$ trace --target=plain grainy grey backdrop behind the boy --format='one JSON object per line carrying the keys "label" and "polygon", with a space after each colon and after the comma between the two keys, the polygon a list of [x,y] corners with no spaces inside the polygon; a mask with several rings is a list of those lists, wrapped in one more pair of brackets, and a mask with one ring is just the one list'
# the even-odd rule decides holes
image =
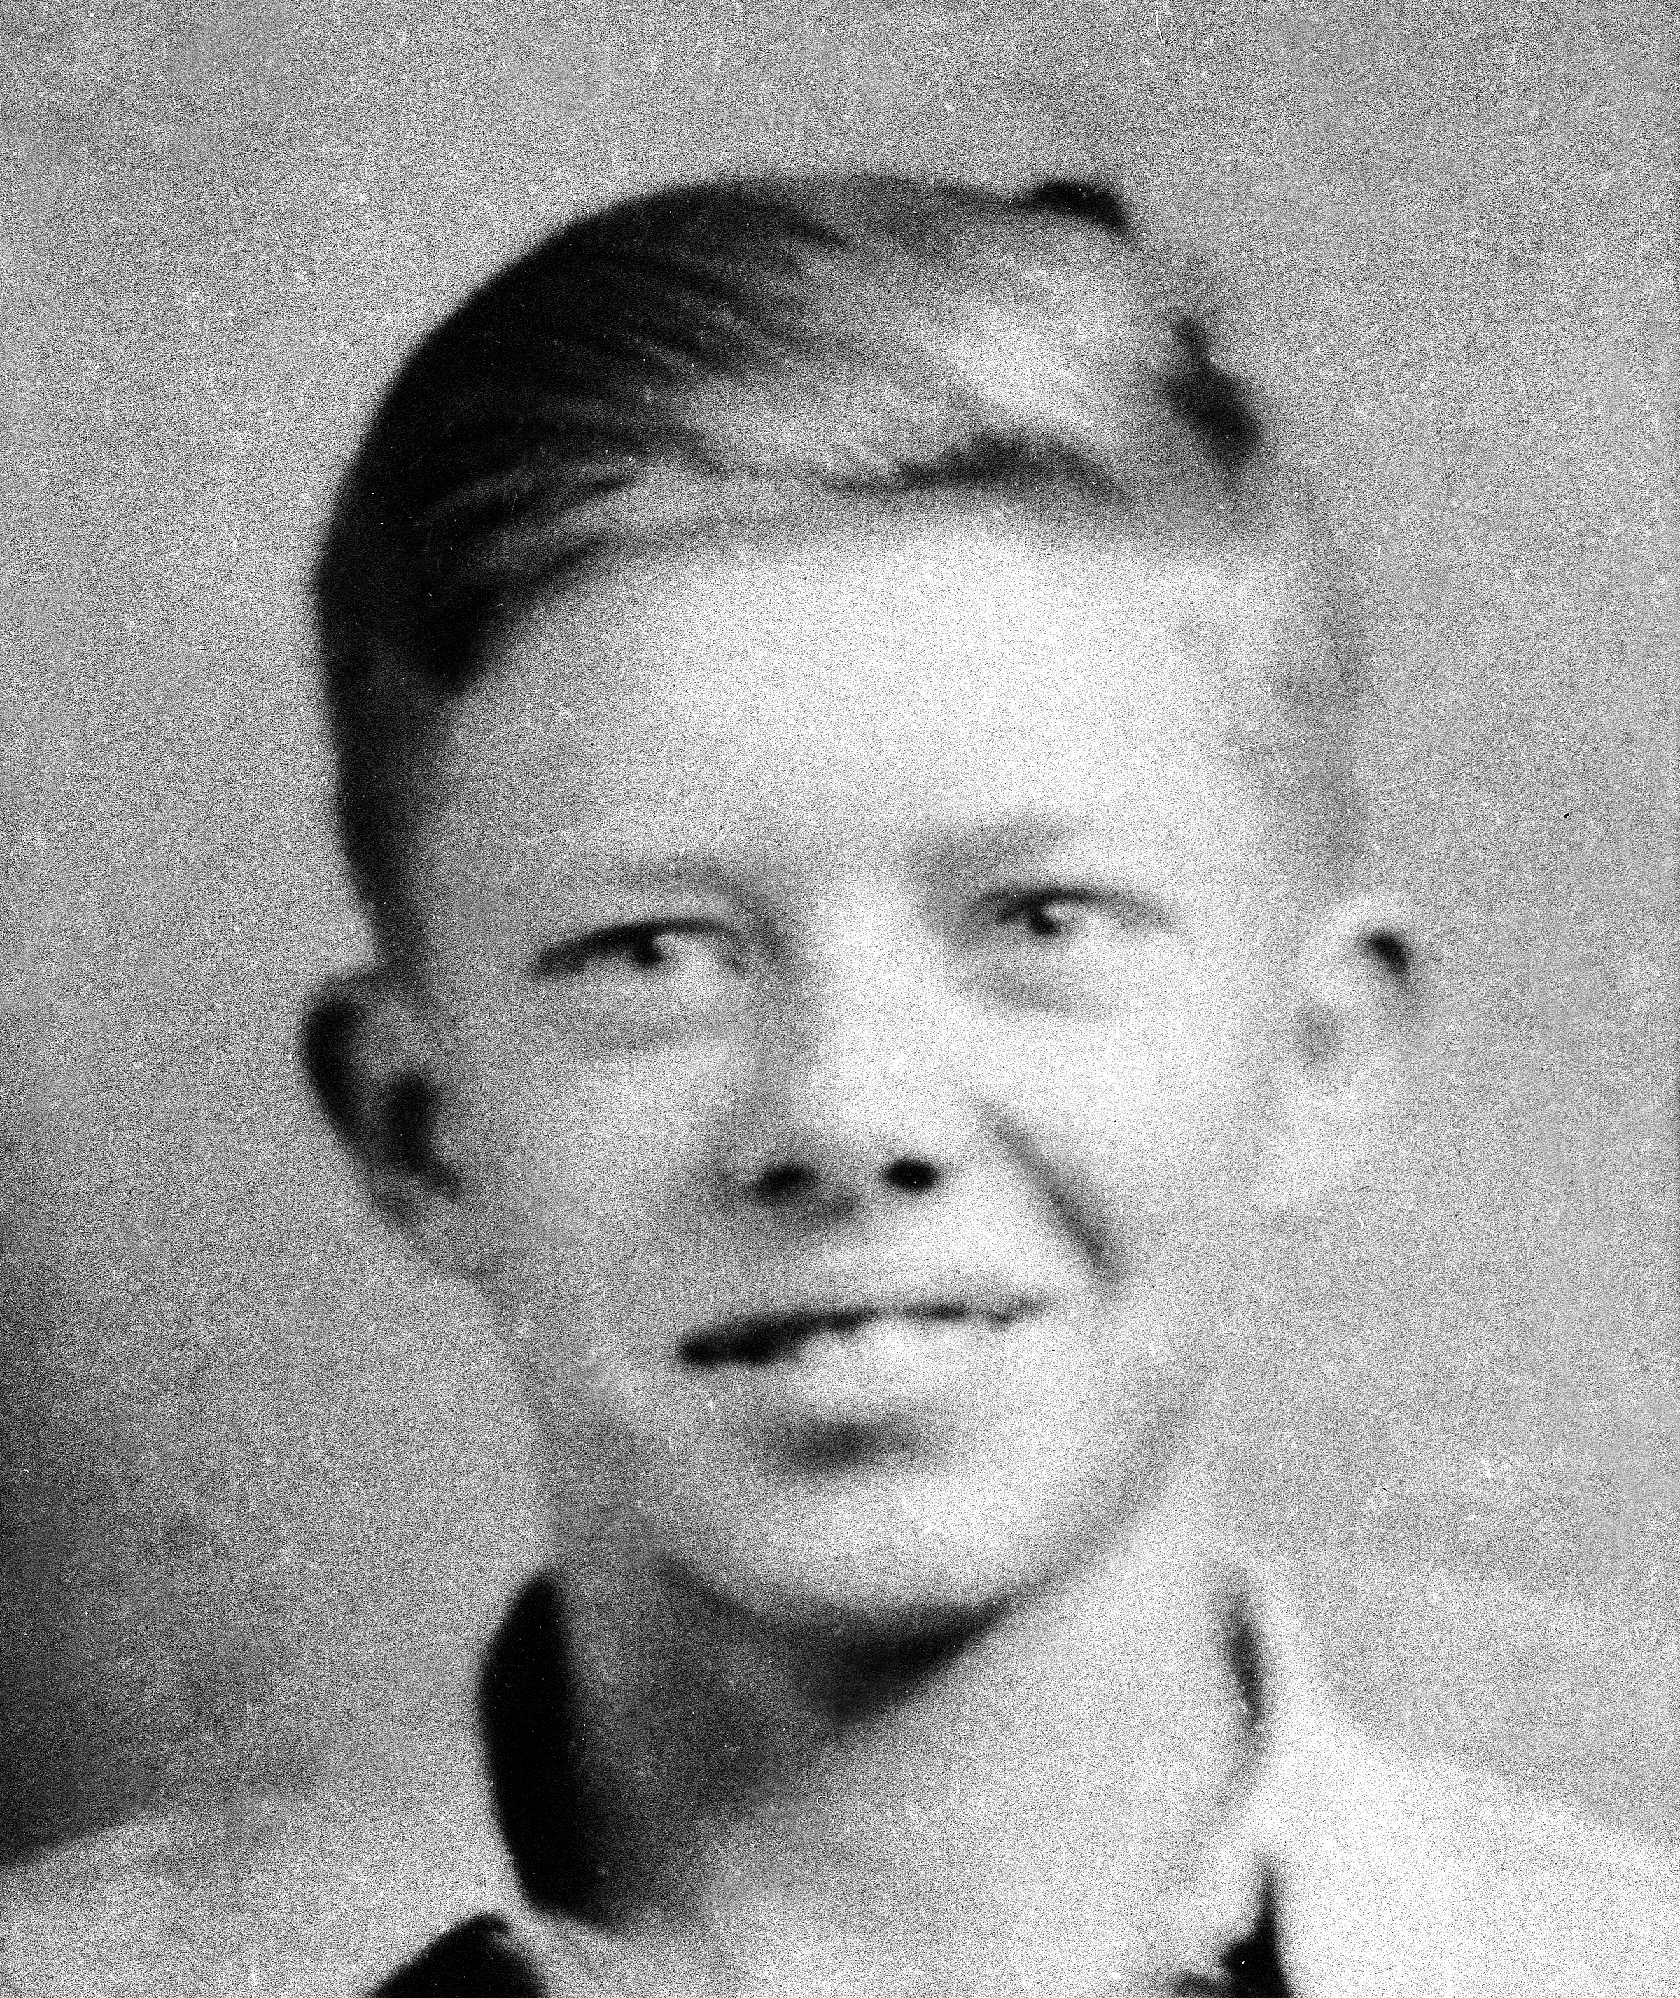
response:
{"label": "plain grainy grey backdrop behind the boy", "polygon": [[1674,1832],[1674,84],[1660,0],[0,4],[0,1852],[465,1760],[539,1542],[483,1325],[300,1089],[362,949],[310,541],[543,226],[833,160],[1097,168],[1229,276],[1432,989],[1233,1329],[1231,1506],[1386,1732]]}

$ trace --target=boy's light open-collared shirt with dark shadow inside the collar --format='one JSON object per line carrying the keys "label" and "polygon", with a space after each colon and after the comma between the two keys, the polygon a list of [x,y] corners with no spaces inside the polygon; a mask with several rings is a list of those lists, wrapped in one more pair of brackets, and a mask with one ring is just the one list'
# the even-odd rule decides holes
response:
{"label": "boy's light open-collared shirt with dark shadow inside the collar", "polygon": [[[0,1878],[0,1998],[591,1998],[609,1954],[543,1908],[577,1862],[545,1822],[555,1598],[491,1646],[495,1820],[471,1784],[142,1820]],[[1209,1828],[1175,1998],[1672,1998],[1680,1860],[1340,1714],[1276,1590],[1229,1620],[1253,1758]],[[537,1968],[545,1964],[547,1968]],[[394,1968],[400,1966],[400,1968]],[[985,1998],[985,1994],[977,1994]]]}

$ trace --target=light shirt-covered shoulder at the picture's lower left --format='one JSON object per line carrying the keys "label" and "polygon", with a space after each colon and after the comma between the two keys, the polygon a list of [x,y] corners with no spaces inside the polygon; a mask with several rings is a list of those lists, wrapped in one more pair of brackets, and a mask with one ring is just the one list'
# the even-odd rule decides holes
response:
{"label": "light shirt-covered shoulder at the picture's lower left", "polygon": [[0,1874],[0,1998],[344,1998],[515,1898],[471,1798],[152,1816]]}

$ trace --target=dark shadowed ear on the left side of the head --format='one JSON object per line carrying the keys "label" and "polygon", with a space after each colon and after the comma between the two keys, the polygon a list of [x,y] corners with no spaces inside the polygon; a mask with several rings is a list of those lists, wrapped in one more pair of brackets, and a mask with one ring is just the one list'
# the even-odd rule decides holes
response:
{"label": "dark shadowed ear on the left side of the head", "polygon": [[410,987],[384,967],[338,973],[304,1015],[298,1053],[380,1213],[443,1275],[479,1275],[437,1045]]}

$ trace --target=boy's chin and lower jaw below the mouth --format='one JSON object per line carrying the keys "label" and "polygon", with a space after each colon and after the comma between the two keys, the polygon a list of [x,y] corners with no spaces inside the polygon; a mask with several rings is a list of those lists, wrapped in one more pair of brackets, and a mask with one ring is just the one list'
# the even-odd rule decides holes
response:
{"label": "boy's chin and lower jaw below the mouth", "polygon": [[[973,1397],[601,1425],[555,1453],[561,1568],[829,1652],[987,1628],[1123,1546],[1191,1441],[1195,1369],[1121,1383],[1057,1357]],[[609,1489],[575,1483],[603,1459]]]}

